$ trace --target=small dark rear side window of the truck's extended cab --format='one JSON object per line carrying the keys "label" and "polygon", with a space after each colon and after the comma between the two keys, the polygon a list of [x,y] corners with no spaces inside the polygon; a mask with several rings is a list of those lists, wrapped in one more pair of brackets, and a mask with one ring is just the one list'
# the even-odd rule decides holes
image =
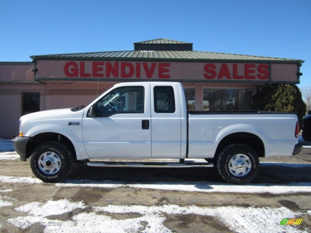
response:
{"label": "small dark rear side window of the truck's extended cab", "polygon": [[153,89],[156,113],[174,113],[175,97],[171,86],[156,86]]}

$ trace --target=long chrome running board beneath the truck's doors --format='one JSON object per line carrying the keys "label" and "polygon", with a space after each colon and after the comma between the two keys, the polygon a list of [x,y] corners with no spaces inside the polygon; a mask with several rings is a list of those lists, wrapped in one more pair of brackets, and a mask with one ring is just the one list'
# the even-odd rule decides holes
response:
{"label": "long chrome running board beneath the truck's doors", "polygon": [[91,167],[207,167],[208,162],[86,162]]}

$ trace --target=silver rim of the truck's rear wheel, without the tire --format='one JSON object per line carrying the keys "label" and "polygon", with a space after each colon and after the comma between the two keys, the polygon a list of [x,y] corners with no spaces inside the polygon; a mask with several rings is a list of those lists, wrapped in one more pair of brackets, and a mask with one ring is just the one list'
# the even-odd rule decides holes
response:
{"label": "silver rim of the truck's rear wheel, without the tire", "polygon": [[244,154],[236,154],[229,161],[229,171],[234,176],[246,176],[251,169],[252,163]]}

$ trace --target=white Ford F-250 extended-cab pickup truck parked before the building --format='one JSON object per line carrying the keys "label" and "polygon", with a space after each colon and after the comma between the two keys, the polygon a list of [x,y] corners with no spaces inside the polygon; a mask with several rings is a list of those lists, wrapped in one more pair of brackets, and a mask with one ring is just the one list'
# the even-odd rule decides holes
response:
{"label": "white Ford F-250 extended-cab pickup truck parked before the building", "polygon": [[14,146],[45,182],[66,177],[74,162],[155,167],[94,159],[179,159],[158,165],[186,167],[195,163],[184,159],[203,158],[227,182],[244,184],[257,175],[259,157],[299,153],[298,134],[295,114],[187,112],[180,83],[132,82],[114,85],[86,106],[22,116]]}

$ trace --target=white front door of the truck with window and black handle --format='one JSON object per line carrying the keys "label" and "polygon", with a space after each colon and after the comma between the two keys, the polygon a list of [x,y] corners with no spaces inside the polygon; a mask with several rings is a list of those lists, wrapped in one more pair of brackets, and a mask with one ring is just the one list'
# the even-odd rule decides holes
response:
{"label": "white front door of the truck with window and black handle", "polygon": [[84,113],[86,152],[90,158],[150,158],[150,121],[150,85],[117,87]]}

